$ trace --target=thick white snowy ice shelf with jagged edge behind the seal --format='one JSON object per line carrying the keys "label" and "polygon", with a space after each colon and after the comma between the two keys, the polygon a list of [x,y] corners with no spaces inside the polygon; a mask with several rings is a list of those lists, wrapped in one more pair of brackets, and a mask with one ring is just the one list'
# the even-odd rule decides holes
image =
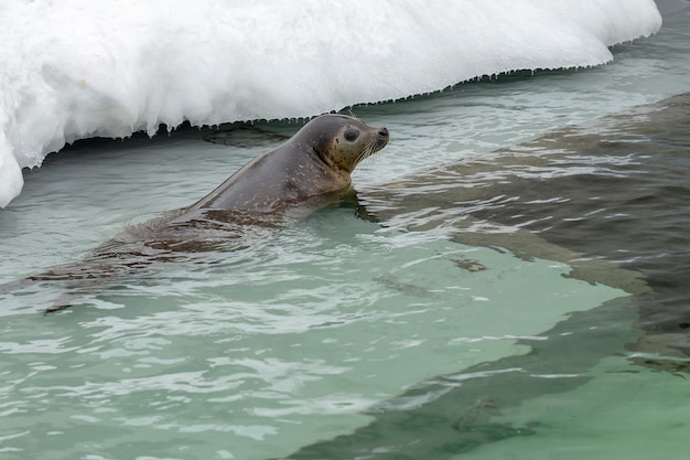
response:
{"label": "thick white snowy ice shelf with jagged edge behind the seal", "polygon": [[591,66],[653,0],[0,3],[0,206],[65,142],[308,117],[516,69]]}

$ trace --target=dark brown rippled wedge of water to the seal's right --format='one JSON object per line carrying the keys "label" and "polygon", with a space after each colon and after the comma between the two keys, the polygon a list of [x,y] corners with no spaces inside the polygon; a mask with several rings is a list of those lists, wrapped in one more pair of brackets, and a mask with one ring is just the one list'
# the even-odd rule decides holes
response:
{"label": "dark brown rippled wedge of water to the seal's right", "polygon": [[[633,292],[640,287],[632,286],[634,280],[623,271],[616,276],[614,264],[637,271],[653,289],[639,300],[640,325],[649,334],[677,336],[675,346],[687,349],[688,127],[690,94],[683,94],[363,191],[360,200],[390,225],[423,229],[443,222],[448,226],[454,216],[459,242],[543,257],[545,247],[530,247],[525,238],[533,238],[521,236],[521,231],[529,231],[572,250],[549,257],[570,257],[565,261],[578,267],[574,276]],[[412,213],[423,213],[423,220]],[[487,231],[477,233],[477,228]],[[587,269],[601,267],[589,260],[593,258],[610,261],[604,270],[611,276],[587,277]]]}

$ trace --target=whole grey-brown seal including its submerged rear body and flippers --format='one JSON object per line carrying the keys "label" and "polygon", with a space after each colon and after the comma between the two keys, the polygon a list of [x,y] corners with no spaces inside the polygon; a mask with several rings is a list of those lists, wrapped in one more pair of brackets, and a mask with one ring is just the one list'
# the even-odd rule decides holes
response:
{"label": "whole grey-brown seal including its submerged rear body and flippers", "polygon": [[[118,274],[148,267],[157,260],[231,249],[247,233],[284,222],[288,211],[301,210],[293,212],[303,215],[312,210],[310,204],[322,203],[326,195],[339,197],[341,193],[351,191],[351,174],[357,164],[382,149],[388,139],[386,128],[373,128],[345,115],[321,115],[195,204],[130,225],[85,259],[2,285],[0,293],[36,281],[88,282],[88,286],[75,286],[78,295]],[[74,293],[67,297],[46,311],[69,307]]]}

